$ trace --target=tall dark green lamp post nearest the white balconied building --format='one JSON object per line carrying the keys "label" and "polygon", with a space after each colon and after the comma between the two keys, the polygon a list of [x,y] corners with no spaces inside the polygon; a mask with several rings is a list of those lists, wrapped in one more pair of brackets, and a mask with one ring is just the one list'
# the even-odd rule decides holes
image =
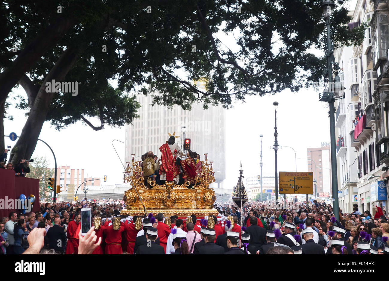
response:
{"label": "tall dark green lamp post nearest the white balconied building", "polygon": [[[334,102],[336,98],[344,98],[344,95],[341,97],[340,94],[343,91],[343,86],[340,83],[339,73],[339,63],[335,63],[333,56],[334,47],[331,42],[331,22],[330,17],[332,10],[335,8],[335,4],[332,0],[326,0],[321,4],[321,7],[326,17],[327,25],[327,65],[326,72],[328,76],[328,88],[327,91],[324,90],[323,93],[319,93],[319,100],[322,102],[329,103],[329,130],[331,134],[331,179],[332,179],[332,205],[333,213],[337,220],[339,220],[339,201],[338,201],[338,181],[337,181],[337,167],[336,167],[336,140],[335,140],[335,107]],[[332,79],[334,65],[334,74],[335,78]]]}

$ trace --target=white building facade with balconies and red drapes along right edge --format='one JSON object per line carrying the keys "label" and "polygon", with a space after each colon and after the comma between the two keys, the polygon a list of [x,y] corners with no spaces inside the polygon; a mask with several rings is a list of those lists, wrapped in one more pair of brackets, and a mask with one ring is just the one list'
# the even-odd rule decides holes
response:
{"label": "white building facade with balconies and red drapes along right edge", "polygon": [[[339,62],[341,68],[339,76],[346,88],[345,98],[337,101],[335,126],[338,129],[338,137],[340,137],[340,139],[337,137],[336,146],[339,207],[343,212],[348,213],[352,212],[353,204],[358,204],[359,211],[367,210],[372,214],[375,213],[375,205],[385,207],[387,204],[387,198],[379,200],[383,197],[382,192],[381,196],[378,196],[377,190],[378,186],[384,185],[380,180],[385,179],[381,175],[386,163],[385,151],[387,149],[383,136],[387,136],[387,131],[385,134],[380,134],[380,124],[382,124],[380,119],[382,118],[379,114],[382,101],[376,98],[380,96],[379,85],[387,76],[384,72],[377,75],[380,67],[386,71],[385,63],[382,63],[384,61],[382,54],[386,53],[389,47],[387,19],[389,10],[386,2],[358,0],[355,10],[350,14],[352,22],[349,26],[353,28],[361,23],[368,23],[364,41],[359,46],[342,46],[334,52],[335,61]],[[380,10],[377,14],[375,10],[378,4],[380,9],[386,5],[386,11]],[[386,33],[382,33],[382,30],[380,32],[380,25],[386,26]],[[384,39],[381,38],[382,36]],[[384,41],[386,43],[383,43]],[[387,44],[387,46],[382,46],[382,44]],[[385,51],[382,49],[384,47]],[[377,53],[379,58],[376,57]],[[355,125],[356,116],[357,124]],[[381,152],[382,144],[384,144],[382,148],[384,153]],[[389,163],[389,157],[387,160]]]}

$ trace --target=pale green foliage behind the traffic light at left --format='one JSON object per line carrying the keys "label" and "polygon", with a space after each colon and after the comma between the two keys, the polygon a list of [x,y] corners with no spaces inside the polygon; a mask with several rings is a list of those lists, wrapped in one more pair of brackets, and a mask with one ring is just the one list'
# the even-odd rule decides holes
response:
{"label": "pale green foliage behind the traffic light at left", "polygon": [[34,162],[29,163],[29,166],[30,173],[27,173],[26,177],[39,179],[40,202],[50,202],[51,190],[47,188],[47,179],[53,176],[54,169],[49,168],[50,163],[46,157],[34,157]]}

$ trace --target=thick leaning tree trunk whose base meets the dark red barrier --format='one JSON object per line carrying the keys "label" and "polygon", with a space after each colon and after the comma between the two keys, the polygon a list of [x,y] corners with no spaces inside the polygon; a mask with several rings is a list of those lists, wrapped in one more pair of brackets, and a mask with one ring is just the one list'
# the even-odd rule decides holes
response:
{"label": "thick leaning tree trunk whose base meets the dark red barrier", "polygon": [[12,149],[11,159],[14,165],[16,165],[20,159],[29,159],[37,145],[40,131],[46,120],[47,112],[49,112],[51,100],[55,95],[55,92],[46,92],[46,82],[51,82],[53,79],[56,82],[63,82],[76,59],[77,50],[73,47],[69,47],[44,79],[39,88],[37,97],[33,102],[30,114],[28,115],[18,142],[16,142],[16,145]]}

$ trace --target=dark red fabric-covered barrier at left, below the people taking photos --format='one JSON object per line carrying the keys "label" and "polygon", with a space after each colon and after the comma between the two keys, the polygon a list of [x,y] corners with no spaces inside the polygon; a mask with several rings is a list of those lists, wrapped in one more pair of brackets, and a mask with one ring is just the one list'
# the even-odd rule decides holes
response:
{"label": "dark red fabric-covered barrier at left, below the people taking photos", "polygon": [[[17,177],[13,170],[0,169],[0,199],[18,199],[21,194],[35,196],[35,204],[32,211],[39,212],[39,179]],[[21,210],[9,210],[8,202],[4,202],[0,208],[0,218],[8,216],[11,211],[21,213]]]}

